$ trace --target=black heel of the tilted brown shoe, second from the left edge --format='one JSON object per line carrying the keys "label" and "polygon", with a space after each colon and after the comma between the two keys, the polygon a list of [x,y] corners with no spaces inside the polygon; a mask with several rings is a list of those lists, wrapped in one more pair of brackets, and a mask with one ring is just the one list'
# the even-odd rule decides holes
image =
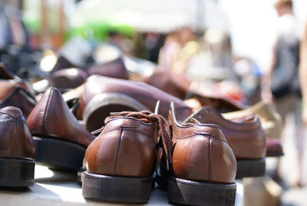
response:
{"label": "black heel of the tilted brown shoe, second from the left edge", "polygon": [[76,172],[82,166],[85,148],[68,141],[46,137],[33,137],[36,163],[50,169]]}

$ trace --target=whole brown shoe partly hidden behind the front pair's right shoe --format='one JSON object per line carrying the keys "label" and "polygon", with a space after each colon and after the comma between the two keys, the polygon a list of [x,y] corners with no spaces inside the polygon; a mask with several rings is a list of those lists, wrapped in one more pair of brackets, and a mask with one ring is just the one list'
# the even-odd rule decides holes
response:
{"label": "whole brown shoe partly hidden behind the front pair's right shoe", "polygon": [[190,121],[220,126],[237,159],[236,178],[264,175],[266,136],[257,115],[234,121],[225,119],[214,108],[204,106],[184,122]]}

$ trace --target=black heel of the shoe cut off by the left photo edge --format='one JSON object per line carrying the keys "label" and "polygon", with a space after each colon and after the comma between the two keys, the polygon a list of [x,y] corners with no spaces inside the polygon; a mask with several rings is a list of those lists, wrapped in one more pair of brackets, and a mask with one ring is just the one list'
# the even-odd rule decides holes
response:
{"label": "black heel of the shoe cut off by the left photo edge", "polygon": [[31,187],[34,185],[34,161],[0,159],[1,187]]}

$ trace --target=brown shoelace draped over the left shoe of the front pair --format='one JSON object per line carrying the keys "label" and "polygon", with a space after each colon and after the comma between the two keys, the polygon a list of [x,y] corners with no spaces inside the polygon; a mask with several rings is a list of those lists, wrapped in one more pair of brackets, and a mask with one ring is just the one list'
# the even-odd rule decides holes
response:
{"label": "brown shoelace draped over the left shoe of the front pair", "polygon": [[[172,163],[172,157],[171,157],[172,136],[170,134],[170,128],[168,127],[168,122],[163,116],[157,115],[155,113],[150,113],[150,111],[139,111],[139,112],[124,111],[120,113],[111,113],[110,115],[111,117],[106,117],[105,122],[108,122],[110,119],[113,119],[115,117],[134,117],[145,123],[157,122],[159,126],[159,133],[161,133],[164,152],[166,155],[166,167],[169,169],[169,164]],[[99,133],[101,131],[102,128],[93,131],[91,134],[93,135],[94,133]]]}

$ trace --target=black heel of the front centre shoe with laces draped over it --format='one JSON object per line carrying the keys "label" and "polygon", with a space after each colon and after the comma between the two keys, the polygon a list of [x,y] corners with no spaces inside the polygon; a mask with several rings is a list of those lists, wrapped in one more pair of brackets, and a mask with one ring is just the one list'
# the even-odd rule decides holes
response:
{"label": "black heel of the front centre shoe with laces draped over it", "polygon": [[133,178],[82,173],[82,195],[100,201],[146,203],[149,201],[152,177]]}

